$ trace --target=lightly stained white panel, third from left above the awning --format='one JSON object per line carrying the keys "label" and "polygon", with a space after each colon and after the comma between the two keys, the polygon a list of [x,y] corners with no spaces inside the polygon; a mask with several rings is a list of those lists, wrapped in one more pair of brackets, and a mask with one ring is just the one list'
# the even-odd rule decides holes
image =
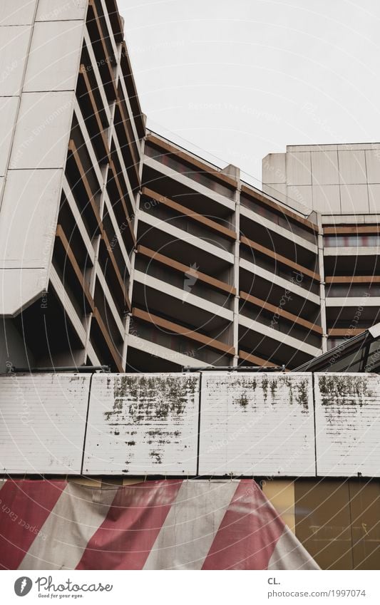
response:
{"label": "lightly stained white panel, third from left above the awning", "polygon": [[202,373],[200,475],[315,475],[310,374]]}

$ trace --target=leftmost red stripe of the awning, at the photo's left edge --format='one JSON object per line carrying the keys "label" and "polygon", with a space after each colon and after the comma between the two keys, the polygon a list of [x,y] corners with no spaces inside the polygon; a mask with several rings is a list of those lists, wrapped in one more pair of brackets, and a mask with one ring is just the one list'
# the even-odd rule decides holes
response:
{"label": "leftmost red stripe of the awning, at the photo's left edge", "polygon": [[0,568],[17,569],[67,483],[7,480],[0,491]]}

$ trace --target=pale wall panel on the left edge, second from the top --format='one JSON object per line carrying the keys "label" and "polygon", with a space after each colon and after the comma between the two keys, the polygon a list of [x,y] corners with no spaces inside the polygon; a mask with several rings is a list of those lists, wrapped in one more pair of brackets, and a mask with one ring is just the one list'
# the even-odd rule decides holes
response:
{"label": "pale wall panel on the left edge, second from the top", "polygon": [[3,27],[0,34],[0,96],[19,95],[28,54],[31,26]]}

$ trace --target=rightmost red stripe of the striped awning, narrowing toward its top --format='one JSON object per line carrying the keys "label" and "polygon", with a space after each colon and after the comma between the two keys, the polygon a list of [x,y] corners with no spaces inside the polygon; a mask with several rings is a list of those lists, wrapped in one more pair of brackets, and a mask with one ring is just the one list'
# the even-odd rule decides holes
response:
{"label": "rightmost red stripe of the striped awning, narrowing toward its top", "polygon": [[252,480],[237,485],[202,569],[267,569],[284,523]]}

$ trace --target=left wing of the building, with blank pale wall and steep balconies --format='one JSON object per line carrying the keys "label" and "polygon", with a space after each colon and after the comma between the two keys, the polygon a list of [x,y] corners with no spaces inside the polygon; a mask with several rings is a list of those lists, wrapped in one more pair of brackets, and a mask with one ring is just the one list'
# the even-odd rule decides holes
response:
{"label": "left wing of the building, with blank pale wall and steep balconies", "polygon": [[1,3],[1,340],[125,367],[144,116],[107,0]]}

